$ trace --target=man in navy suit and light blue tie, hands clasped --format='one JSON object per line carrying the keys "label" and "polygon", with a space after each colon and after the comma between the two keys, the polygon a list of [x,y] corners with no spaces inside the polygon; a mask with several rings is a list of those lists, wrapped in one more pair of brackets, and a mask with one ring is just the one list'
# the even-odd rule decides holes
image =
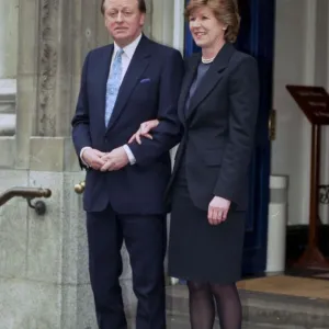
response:
{"label": "man in navy suit and light blue tie, hands clasped", "polygon": [[[126,329],[120,286],[125,241],[138,299],[136,328],[166,328],[163,192],[169,149],[179,132],[177,103],[183,76],[180,53],[143,35],[144,0],[104,0],[113,45],[87,55],[72,118],[72,138],[87,168],[90,280],[100,329]],[[140,123],[163,121],[152,140],[127,140]]]}

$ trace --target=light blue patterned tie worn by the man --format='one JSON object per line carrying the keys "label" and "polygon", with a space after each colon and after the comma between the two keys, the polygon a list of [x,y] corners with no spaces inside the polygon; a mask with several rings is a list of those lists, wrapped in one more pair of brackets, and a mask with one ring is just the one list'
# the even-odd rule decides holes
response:
{"label": "light blue patterned tie worn by the man", "polygon": [[105,105],[105,126],[107,127],[114,104],[117,98],[121,78],[122,78],[122,54],[123,49],[116,52],[112,69],[106,83],[106,105]]}

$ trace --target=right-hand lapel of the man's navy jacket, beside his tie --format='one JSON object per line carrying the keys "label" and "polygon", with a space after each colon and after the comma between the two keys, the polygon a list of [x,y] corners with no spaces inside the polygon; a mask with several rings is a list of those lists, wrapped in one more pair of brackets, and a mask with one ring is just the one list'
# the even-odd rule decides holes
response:
{"label": "right-hand lapel of the man's navy jacket, beside his tie", "polygon": [[139,79],[149,64],[150,52],[148,49],[148,38],[143,36],[135,54],[132,58],[126,75],[118,90],[116,102],[107,126],[107,131],[114,125],[124,106],[126,105],[133,90],[139,82]]}

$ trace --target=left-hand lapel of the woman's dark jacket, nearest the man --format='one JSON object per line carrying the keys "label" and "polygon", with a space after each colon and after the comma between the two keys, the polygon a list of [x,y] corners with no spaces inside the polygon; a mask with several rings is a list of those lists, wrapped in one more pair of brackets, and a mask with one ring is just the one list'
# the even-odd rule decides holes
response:
{"label": "left-hand lapel of the woman's dark jacket, nearest the man", "polygon": [[179,99],[179,104],[178,104],[178,114],[179,114],[180,121],[183,124],[185,124],[186,100],[190,94],[191,84],[196,75],[197,66],[201,60],[201,55],[196,54],[190,60],[191,60],[191,63],[190,63],[189,67],[186,68],[186,72],[185,72],[185,76],[183,79],[181,94],[180,94],[180,99]]}

